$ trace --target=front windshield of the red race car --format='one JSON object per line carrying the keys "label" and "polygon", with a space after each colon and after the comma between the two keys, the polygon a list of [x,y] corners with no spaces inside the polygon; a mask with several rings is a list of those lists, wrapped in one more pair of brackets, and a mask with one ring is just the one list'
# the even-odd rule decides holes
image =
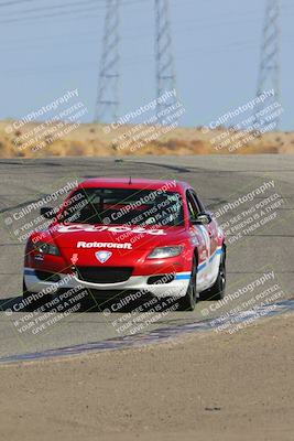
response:
{"label": "front windshield of the red race car", "polygon": [[184,223],[183,200],[176,192],[162,190],[80,189],[66,202],[58,222],[179,226]]}

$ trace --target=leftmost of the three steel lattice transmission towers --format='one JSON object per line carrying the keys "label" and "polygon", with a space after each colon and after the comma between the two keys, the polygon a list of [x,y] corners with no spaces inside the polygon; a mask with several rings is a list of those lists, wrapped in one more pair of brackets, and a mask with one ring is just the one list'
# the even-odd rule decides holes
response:
{"label": "leftmost of the three steel lattice transmission towers", "polygon": [[118,119],[119,109],[119,1],[107,0],[95,121]]}

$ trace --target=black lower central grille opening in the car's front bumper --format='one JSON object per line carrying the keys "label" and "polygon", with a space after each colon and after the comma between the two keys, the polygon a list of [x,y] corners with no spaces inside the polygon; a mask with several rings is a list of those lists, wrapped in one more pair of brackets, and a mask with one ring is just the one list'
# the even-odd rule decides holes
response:
{"label": "black lower central grille opening in the car's front bumper", "polygon": [[132,267],[77,267],[77,277],[91,283],[118,283],[128,280],[132,271]]}

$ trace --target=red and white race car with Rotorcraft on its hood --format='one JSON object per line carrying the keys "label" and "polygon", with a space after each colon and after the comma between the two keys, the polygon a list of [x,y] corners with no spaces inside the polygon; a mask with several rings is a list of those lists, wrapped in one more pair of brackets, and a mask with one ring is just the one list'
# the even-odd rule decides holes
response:
{"label": "red and white race car with Rotorcraft on its hood", "polygon": [[58,211],[41,214],[52,222],[26,244],[26,308],[77,287],[104,298],[110,291],[177,298],[190,311],[200,298],[224,297],[224,233],[185,182],[90,179]]}

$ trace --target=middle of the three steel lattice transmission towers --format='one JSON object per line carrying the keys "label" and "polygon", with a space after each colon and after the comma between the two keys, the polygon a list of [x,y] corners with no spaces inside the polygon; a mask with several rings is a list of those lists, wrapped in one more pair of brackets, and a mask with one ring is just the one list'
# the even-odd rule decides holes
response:
{"label": "middle of the three steel lattice transmission towers", "polygon": [[[155,57],[156,57],[156,95],[157,99],[165,93],[175,89],[176,80],[172,55],[172,37],[170,25],[168,0],[155,0]],[[156,112],[159,122],[165,123],[163,110],[176,103],[172,95],[159,103]]]}

